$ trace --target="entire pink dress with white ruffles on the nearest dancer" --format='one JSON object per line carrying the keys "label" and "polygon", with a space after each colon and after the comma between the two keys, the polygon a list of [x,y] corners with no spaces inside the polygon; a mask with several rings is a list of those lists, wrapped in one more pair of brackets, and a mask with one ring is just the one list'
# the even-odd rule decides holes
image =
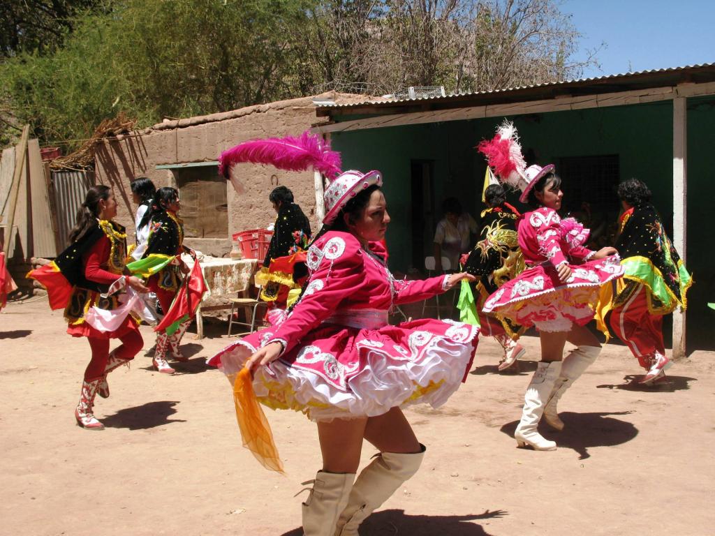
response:
{"label": "entire pink dress with white ruffles on the nearest dancer", "polygon": [[443,405],[470,369],[479,328],[435,319],[389,325],[390,307],[445,292],[447,278],[395,279],[377,255],[382,249],[375,242],[366,251],[352,234],[327,232],[308,250],[310,279],[292,312],[208,363],[233,384],[253,352],[280,341],[281,357],[255,373],[256,396],[312,420]]}

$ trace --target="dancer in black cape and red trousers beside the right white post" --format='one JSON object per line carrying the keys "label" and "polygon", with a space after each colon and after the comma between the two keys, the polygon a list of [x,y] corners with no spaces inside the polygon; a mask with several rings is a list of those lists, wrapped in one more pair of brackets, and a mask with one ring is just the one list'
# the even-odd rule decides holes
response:
{"label": "dancer in black cape and red trousers beside the right white post", "polygon": [[616,284],[609,323],[646,370],[650,384],[665,376],[671,362],[663,341],[663,316],[687,306],[692,278],[651,204],[651,191],[638,179],[618,185],[623,205],[616,249],[626,269]]}

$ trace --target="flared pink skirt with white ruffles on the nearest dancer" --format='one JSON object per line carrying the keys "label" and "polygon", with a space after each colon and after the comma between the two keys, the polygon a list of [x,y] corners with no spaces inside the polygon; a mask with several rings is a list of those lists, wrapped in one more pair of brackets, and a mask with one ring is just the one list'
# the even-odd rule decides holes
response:
{"label": "flared pink skirt with white ruffles on the nearest dancer", "polygon": [[[384,324],[384,322],[383,322]],[[209,359],[235,382],[274,329],[248,335]],[[255,373],[262,404],[312,420],[374,417],[393,407],[443,405],[470,369],[479,328],[422,319],[365,329],[324,322],[280,359]]]}

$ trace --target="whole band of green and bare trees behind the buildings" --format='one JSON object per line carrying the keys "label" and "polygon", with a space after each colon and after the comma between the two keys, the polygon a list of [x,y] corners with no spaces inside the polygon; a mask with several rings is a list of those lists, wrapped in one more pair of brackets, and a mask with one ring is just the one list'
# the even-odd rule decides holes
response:
{"label": "whole band of green and bare trees behind the buildings", "polygon": [[328,89],[490,90],[580,68],[557,0],[20,1],[54,6],[64,39],[16,31],[23,44],[0,63],[1,144],[23,123],[77,147],[119,111],[147,126]]}

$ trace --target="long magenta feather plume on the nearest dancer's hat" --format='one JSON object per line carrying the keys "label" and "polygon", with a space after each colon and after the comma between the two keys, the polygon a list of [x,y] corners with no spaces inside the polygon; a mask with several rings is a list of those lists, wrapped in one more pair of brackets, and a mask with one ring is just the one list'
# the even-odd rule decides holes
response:
{"label": "long magenta feather plume on the nearest dancer's hat", "polygon": [[255,139],[227,149],[219,157],[219,173],[228,177],[232,164],[251,162],[270,164],[278,169],[302,172],[312,167],[325,175],[340,174],[340,153],[317,134],[303,132],[300,137]]}

